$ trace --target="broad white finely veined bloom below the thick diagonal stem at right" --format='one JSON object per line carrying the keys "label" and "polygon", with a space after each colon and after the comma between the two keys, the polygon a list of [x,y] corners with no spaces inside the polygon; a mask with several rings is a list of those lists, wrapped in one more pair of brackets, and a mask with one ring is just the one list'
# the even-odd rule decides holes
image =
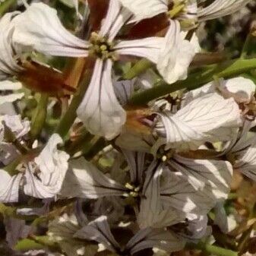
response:
{"label": "broad white finely veined bloom below the thick diagonal stem at right", "polygon": [[229,141],[233,128],[239,128],[239,106],[231,98],[223,100],[209,93],[192,100],[175,114],[159,112],[161,121],[155,130],[166,147],[196,150],[206,141]]}

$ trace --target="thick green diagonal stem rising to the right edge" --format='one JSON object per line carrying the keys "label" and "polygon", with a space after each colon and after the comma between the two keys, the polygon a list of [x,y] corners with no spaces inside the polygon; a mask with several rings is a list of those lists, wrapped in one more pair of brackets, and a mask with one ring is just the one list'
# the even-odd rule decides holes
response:
{"label": "thick green diagonal stem rising to the right edge", "polygon": [[233,77],[239,74],[251,71],[251,69],[256,68],[256,58],[251,59],[235,59],[232,62],[223,63],[223,65],[211,65],[207,67],[206,71],[197,72],[188,76],[185,81],[178,81],[174,84],[166,84],[165,81],[156,83],[153,88],[144,90],[141,93],[136,93],[131,97],[129,105],[144,105],[150,100],[154,100],[160,96],[164,96],[168,93],[172,93],[175,90],[181,90],[187,88],[188,90],[193,90],[213,81],[213,76],[216,77]]}

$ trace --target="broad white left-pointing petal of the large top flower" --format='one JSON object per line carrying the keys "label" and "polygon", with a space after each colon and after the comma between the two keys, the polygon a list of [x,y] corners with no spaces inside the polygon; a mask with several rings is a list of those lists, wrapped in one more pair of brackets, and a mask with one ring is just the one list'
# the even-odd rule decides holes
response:
{"label": "broad white left-pointing petal of the large top flower", "polygon": [[86,57],[89,43],[62,26],[57,11],[43,3],[30,5],[14,18],[14,42],[46,55]]}

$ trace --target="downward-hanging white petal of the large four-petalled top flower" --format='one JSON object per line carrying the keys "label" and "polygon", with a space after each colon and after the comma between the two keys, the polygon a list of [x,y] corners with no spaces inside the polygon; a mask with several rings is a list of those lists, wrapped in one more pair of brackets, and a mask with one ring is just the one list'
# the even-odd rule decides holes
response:
{"label": "downward-hanging white petal of the large four-petalled top flower", "polygon": [[96,60],[87,93],[77,109],[77,117],[90,133],[109,140],[120,133],[126,120],[125,110],[115,96],[111,72],[110,60]]}

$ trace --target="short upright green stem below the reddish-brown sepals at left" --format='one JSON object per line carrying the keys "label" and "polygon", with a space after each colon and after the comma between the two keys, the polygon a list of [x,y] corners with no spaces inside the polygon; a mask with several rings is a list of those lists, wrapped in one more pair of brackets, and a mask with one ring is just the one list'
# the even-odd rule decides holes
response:
{"label": "short upright green stem below the reddish-brown sepals at left", "polygon": [[49,96],[47,94],[42,93],[40,96],[39,103],[36,106],[36,110],[33,113],[32,125],[30,130],[32,141],[34,141],[43,130],[43,125],[46,122],[48,100]]}

